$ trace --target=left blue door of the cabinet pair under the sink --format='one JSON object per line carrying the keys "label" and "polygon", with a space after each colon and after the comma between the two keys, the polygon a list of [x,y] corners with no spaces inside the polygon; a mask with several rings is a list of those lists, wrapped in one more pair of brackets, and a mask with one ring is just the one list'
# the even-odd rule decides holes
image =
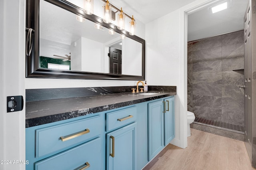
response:
{"label": "left blue door of the cabinet pair under the sink", "polygon": [[148,103],[148,161],[164,148],[163,100]]}

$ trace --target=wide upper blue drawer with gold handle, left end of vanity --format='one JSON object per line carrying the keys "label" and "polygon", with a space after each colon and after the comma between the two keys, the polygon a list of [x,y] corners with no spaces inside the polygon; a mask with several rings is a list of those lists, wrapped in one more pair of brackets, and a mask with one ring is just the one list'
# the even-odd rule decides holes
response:
{"label": "wide upper blue drawer with gold handle, left end of vanity", "polygon": [[[100,115],[36,130],[36,157],[68,149],[101,132]],[[55,153],[54,153],[55,154]]]}

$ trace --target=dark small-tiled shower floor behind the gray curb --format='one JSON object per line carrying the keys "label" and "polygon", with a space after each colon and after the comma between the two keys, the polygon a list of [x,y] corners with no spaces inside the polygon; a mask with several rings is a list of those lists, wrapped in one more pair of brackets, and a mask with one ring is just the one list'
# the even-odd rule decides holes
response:
{"label": "dark small-tiled shower floor behind the gray curb", "polygon": [[214,127],[214,128],[219,128],[222,130],[227,130],[231,132],[236,132],[240,134],[244,134],[244,127],[240,125],[233,125],[230,123],[224,123],[220,121],[213,121],[213,120],[208,120],[204,118],[198,118],[196,117],[195,121],[193,123],[199,124],[199,125],[205,125],[208,127]]}

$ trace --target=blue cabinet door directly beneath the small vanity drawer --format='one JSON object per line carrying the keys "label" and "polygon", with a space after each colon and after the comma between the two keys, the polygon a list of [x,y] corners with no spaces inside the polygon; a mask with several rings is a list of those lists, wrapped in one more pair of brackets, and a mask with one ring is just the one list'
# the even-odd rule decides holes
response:
{"label": "blue cabinet door directly beneath the small vanity drawer", "polygon": [[108,170],[136,170],[136,123],[107,134]]}

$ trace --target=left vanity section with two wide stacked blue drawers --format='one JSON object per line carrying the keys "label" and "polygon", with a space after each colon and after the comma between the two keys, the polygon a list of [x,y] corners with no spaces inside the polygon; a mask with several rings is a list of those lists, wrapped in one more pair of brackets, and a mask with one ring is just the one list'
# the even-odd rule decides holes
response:
{"label": "left vanity section with two wide stacked blue drawers", "polygon": [[96,113],[26,128],[26,170],[104,170],[104,124]]}

